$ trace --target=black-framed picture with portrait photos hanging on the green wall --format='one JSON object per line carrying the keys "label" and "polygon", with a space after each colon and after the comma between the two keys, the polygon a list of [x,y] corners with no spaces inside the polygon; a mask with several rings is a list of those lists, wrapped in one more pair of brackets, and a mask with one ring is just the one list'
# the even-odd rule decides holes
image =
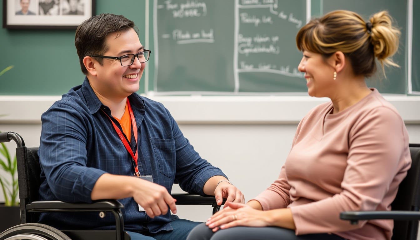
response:
{"label": "black-framed picture with portrait photos hanging on the green wall", "polygon": [[95,0],[3,0],[3,28],[76,29],[94,12]]}

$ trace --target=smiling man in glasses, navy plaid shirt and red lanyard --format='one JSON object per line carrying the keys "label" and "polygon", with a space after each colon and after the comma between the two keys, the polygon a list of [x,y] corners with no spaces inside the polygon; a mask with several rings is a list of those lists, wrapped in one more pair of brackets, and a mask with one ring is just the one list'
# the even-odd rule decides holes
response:
{"label": "smiling man in glasses, navy plaid shirt and red lanyard", "polygon": [[[134,29],[113,14],[77,28],[86,77],[42,114],[40,200],[119,199],[133,240],[185,239],[198,222],[171,215],[174,182],[189,193],[215,195],[218,204],[222,198],[243,203],[244,196],[194,151],[161,103],[136,94],[150,51]],[[97,213],[47,213],[40,222],[58,229],[115,226],[112,216]]]}

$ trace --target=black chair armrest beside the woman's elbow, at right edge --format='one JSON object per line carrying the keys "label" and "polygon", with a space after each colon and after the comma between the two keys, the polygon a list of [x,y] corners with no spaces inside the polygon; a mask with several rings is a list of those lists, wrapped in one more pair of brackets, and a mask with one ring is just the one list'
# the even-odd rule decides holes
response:
{"label": "black chair armrest beside the woman's elbow, at right edge", "polygon": [[340,213],[340,219],[349,220],[357,224],[359,220],[393,219],[393,220],[420,220],[419,211],[347,211]]}

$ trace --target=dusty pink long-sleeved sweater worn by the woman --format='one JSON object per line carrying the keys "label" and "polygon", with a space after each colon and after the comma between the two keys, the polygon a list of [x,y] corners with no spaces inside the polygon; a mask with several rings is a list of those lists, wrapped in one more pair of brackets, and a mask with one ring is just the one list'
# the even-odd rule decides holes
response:
{"label": "dusty pink long-sleeved sweater worn by the woman", "polygon": [[372,90],[336,114],[329,114],[331,102],[312,109],[297,127],[280,176],[255,198],[264,210],[289,207],[297,235],[391,239],[392,220],[351,225],[339,219],[342,211],[390,210],[411,166],[401,116]]}

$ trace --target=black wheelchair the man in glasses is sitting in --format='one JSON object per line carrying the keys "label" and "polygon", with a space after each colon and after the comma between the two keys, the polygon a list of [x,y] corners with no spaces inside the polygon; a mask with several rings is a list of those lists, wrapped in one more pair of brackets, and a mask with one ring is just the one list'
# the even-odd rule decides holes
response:
{"label": "black wheelchair the man in glasses is sitting in", "polygon": [[[97,200],[93,203],[66,203],[62,201],[38,201],[41,185],[38,148],[27,148],[23,138],[14,132],[1,132],[0,142],[16,142],[19,199],[21,224],[0,233],[0,240],[129,240],[124,231],[121,208],[118,200]],[[172,194],[177,205],[211,205],[213,214],[220,210],[213,196],[200,196],[190,193]],[[223,200],[223,203],[225,199]],[[223,204],[222,203],[222,204]],[[111,213],[115,218],[115,230],[58,230],[46,224],[39,224],[42,212],[98,212],[103,218]],[[4,216],[1,216],[4,217]]]}

